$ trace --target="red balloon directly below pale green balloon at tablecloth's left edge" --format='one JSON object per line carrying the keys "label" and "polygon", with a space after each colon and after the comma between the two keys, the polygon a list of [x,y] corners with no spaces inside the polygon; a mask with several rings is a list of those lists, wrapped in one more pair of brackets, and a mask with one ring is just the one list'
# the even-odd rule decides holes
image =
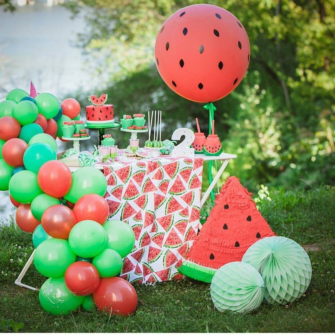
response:
{"label": "red balloon directly below pale green balloon at tablecloth's left edge", "polygon": [[78,222],[93,220],[103,225],[108,217],[109,207],[105,198],[98,194],[86,194],[73,207]]}

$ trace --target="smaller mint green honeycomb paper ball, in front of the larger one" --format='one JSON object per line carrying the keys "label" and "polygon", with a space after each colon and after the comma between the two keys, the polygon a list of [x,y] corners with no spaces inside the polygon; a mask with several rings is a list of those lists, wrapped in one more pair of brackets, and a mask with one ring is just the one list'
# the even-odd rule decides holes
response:
{"label": "smaller mint green honeycomb paper ball, in front of the larger one", "polygon": [[264,281],[257,270],[243,262],[221,266],[214,274],[210,294],[216,309],[248,313],[262,303]]}

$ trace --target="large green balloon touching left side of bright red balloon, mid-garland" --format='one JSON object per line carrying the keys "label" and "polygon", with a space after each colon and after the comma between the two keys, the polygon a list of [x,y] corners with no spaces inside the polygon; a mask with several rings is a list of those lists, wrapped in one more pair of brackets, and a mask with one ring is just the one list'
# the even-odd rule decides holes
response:
{"label": "large green balloon touching left side of bright red balloon, mid-garland", "polygon": [[37,174],[31,171],[19,171],[9,181],[9,193],[20,204],[30,204],[43,193],[37,182]]}

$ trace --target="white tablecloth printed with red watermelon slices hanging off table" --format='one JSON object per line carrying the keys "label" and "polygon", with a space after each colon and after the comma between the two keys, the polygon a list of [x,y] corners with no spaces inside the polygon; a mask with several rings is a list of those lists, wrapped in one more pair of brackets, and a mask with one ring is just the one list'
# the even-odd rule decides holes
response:
{"label": "white tablecloth printed with red watermelon slices hanging off table", "polygon": [[127,222],[134,250],[121,277],[130,282],[178,279],[176,265],[199,228],[202,158],[159,158],[104,165],[109,219]]}

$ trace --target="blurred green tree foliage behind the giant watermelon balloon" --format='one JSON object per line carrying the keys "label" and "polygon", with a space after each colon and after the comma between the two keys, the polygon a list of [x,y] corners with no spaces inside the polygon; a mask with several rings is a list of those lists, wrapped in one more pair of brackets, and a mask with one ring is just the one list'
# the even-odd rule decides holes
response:
{"label": "blurred green tree foliage behind the giant watermelon balloon", "polygon": [[[159,27],[177,9],[203,1],[87,0],[80,45],[95,59],[94,76],[106,75],[116,111],[160,108],[170,138],[198,117],[202,106],[172,92],[154,64]],[[228,171],[255,190],[260,184],[310,187],[335,180],[334,2],[326,0],[219,0],[243,23],[251,45],[246,77],[216,102],[216,130],[225,152],[238,158]]]}

